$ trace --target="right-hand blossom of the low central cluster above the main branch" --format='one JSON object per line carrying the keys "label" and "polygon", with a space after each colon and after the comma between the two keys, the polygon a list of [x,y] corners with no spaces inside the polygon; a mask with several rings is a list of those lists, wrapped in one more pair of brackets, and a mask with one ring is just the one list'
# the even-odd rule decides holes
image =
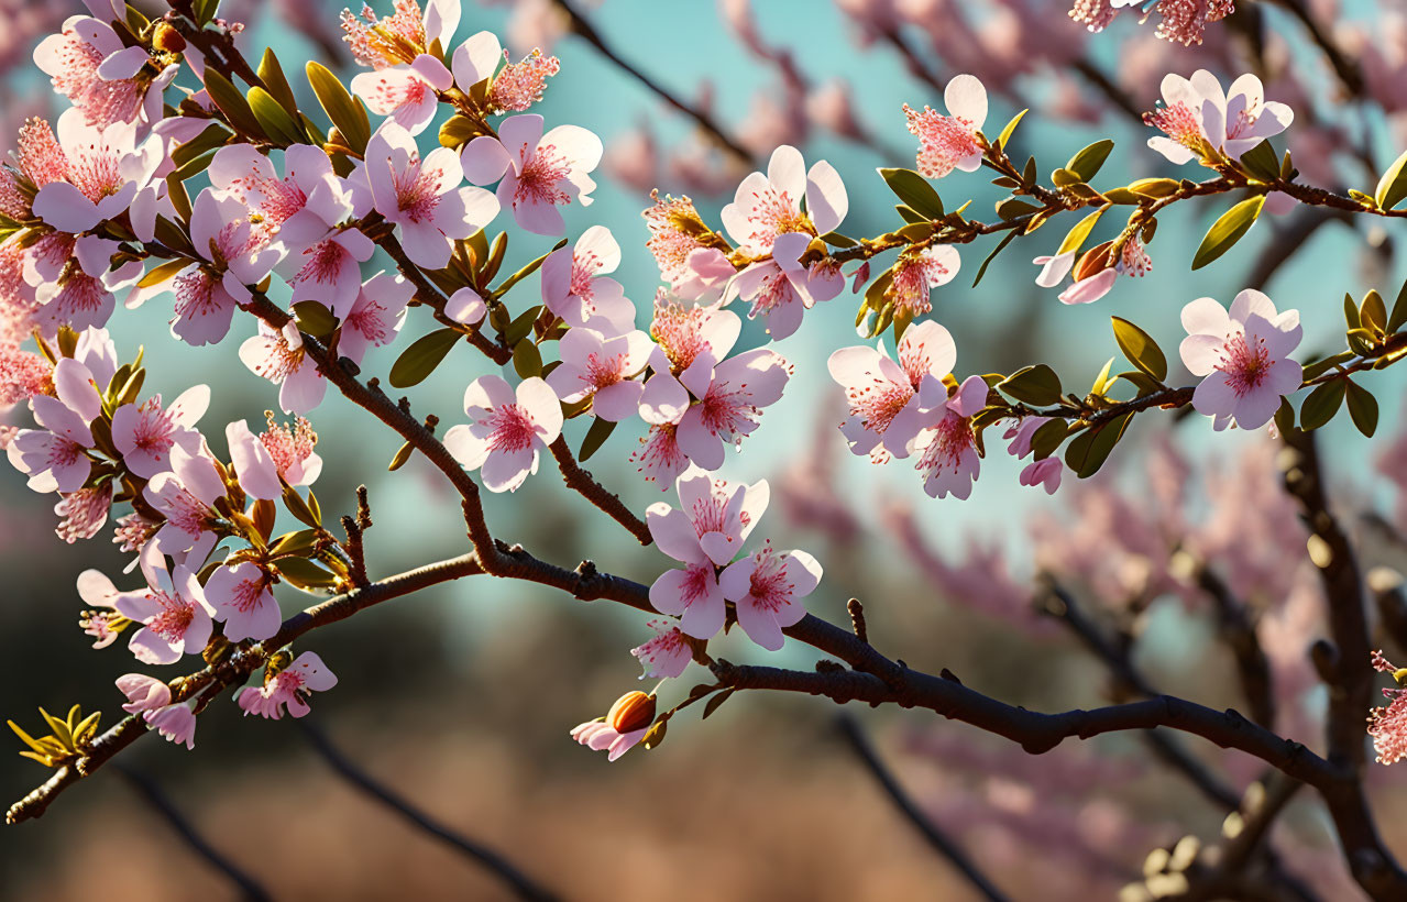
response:
{"label": "right-hand blossom of the low central cluster above the main branch", "polygon": [[820,584],[820,564],[806,552],[775,552],[771,545],[727,566],[718,584],[737,606],[737,625],[768,652],[782,647],[782,629],[806,616],[799,602]]}

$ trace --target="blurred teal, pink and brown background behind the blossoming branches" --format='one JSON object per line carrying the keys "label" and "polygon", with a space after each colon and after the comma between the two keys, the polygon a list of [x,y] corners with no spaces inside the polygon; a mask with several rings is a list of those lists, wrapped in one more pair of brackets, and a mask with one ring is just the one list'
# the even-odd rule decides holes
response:
{"label": "blurred teal, pink and brown background behind the blossoming branches", "polygon": [[[764,167],[772,146],[795,144],[808,163],[829,159],[844,176],[851,211],[841,231],[877,235],[895,217],[874,169],[913,166],[900,106],[941,108],[940,86],[958,72],[974,72],[992,93],[989,132],[1033,110],[1013,156],[1037,153],[1043,173],[1092,141],[1114,138],[1102,186],[1193,174],[1144,146],[1150,129],[1137,113],[1152,108],[1164,73],[1196,68],[1223,83],[1256,70],[1268,99],[1294,107],[1289,146],[1309,182],[1370,191],[1403,146],[1407,21],[1390,8],[1396,4],[1294,4],[1316,24],[1317,42],[1306,20],[1280,6],[1241,3],[1190,49],[1158,39],[1157,15],[1141,27],[1133,14],[1121,15],[1106,34],[1089,35],[1062,6],[466,1],[457,38],[488,28],[504,37],[514,59],[533,48],[560,58],[561,75],[536,111],[549,124],[591,128],[608,148],[595,204],[568,211],[568,234],[594,222],[613,231],[625,249],[616,277],[642,328],[658,284],[640,218],[651,187],[689,194],[716,222],[741,176]],[[339,10],[317,0],[225,0],[219,14],[248,25],[242,41],[255,56],[273,46],[290,75],[317,58],[350,76]],[[79,13],[76,3],[0,3],[6,146],[24,117],[55,114],[55,96],[30,53]],[[582,37],[582,21],[592,39]],[[1327,58],[1321,44],[1338,59]],[[702,135],[602,49],[708,117],[736,149]],[[293,80],[315,108],[305,83]],[[955,173],[937,187],[948,208],[974,200],[976,218],[992,218],[992,201],[1002,197],[979,174]],[[1110,314],[1134,319],[1171,352],[1189,300],[1210,294],[1225,304],[1251,284],[1263,284],[1280,310],[1301,311],[1301,350],[1330,353],[1342,345],[1342,294],[1361,300],[1376,287],[1390,303],[1407,274],[1393,253],[1400,235],[1310,210],[1273,222],[1266,217],[1234,253],[1189,273],[1221,208],[1180,204],[1162,217],[1150,248],[1152,274],[1120,280],[1088,307],[1064,307],[1055,291],[1033,283],[1030,259],[1054,252],[1064,229],[1020,241],[978,290],[971,279],[992,245],[964,248],[962,273],[934,294],[933,311],[958,341],[958,373],[1045,362],[1068,387],[1093,381],[1117,353]],[[516,229],[511,238],[509,265],[550,248]],[[373,260],[367,274],[377,265],[387,262]],[[519,287],[509,304],[530,304],[535,286],[536,279]],[[1075,484],[1067,474],[1065,487],[1047,497],[1017,485],[1016,463],[989,432],[972,498],[929,500],[910,469],[851,457],[834,429],[843,407],[825,360],[857,342],[857,300],[847,293],[817,307],[778,345],[796,374],[746,440],[747,453],[722,470],[726,478],[771,480],[772,507],[757,535],[823,563],[826,577],[808,602],[815,614],[844,622],[847,598],[858,597],[885,653],[934,673],[947,667],[968,685],[1036,709],[1134,698],[1141,690],[1128,670],[1157,691],[1244,708],[1224,642],[1225,599],[1189,576],[1192,560],[1220,577],[1265,649],[1276,729],[1320,747],[1324,698],[1306,649],[1321,635],[1323,598],[1304,560],[1306,533],[1278,487],[1273,443],[1263,435],[1213,435],[1196,415],[1179,422],[1140,417],[1096,480]],[[405,342],[428,331],[415,312]],[[259,421],[274,405],[270,386],[239,364],[234,345],[224,353],[187,348],[167,335],[165,319],[156,301],[110,324],[124,359],[145,346],[151,390],[173,397],[193,374],[208,381],[214,404],[201,426],[212,436],[225,422]],[[246,332],[252,326],[236,319],[232,339]],[[763,338],[749,324],[743,343]],[[364,369],[384,374],[395,353],[381,349]],[[456,349],[412,391],[415,409],[456,422],[464,384],[490,367],[470,349]],[[1172,370],[1172,384],[1188,384],[1176,359]],[[1401,367],[1373,373],[1365,387],[1383,411],[1376,438],[1362,438],[1341,414],[1320,439],[1339,512],[1359,536],[1366,566],[1390,583],[1407,567],[1407,440],[1394,438],[1401,433]],[[21,422],[20,414],[8,421]],[[326,463],[317,484],[324,509],[349,512],[356,484],[370,490],[373,576],[464,550],[459,507],[435,473],[419,459],[386,471],[398,446],[388,432],[331,395],[311,419]],[[568,425],[574,442],[580,426]],[[590,469],[643,511],[671,495],[628,463],[639,433],[619,429]],[[113,723],[121,701],[113,680],[134,670],[132,660],[122,642],[103,652],[87,647],[76,628],[73,581],[86,567],[115,577],[127,561],[101,538],[73,547],[58,542],[52,501],[28,493],[18,474],[0,478],[0,706],[27,728],[38,720],[37,705],[61,712],[82,704]],[[554,563],[591,557],[644,583],[667,566],[654,549],[632,547],[622,531],[602,526],[604,518],[550,470],[515,495],[490,497],[488,508],[498,535]],[[1050,614],[1048,595],[1036,585],[1040,573],[1059,581],[1112,652],[1092,653],[1069,611]],[[127,588],[132,578],[117,581]],[[310,599],[290,591],[281,602],[291,612]],[[314,701],[310,722],[377,781],[564,898],[981,898],[889,803],[827,701],[739,697],[706,723],[678,718],[658,750],[636,750],[612,766],[571,743],[571,726],[639,685],[628,650],[649,637],[644,619],[532,585],[466,580],[426,591],[300,646],[317,650],[339,677]],[[1399,663],[1404,652],[1396,650]],[[792,646],[768,657],[739,637],[716,643],[715,654],[799,667],[815,657]],[[169,675],[176,673],[172,667]],[[666,690],[666,701],[704,681],[706,674],[691,668]],[[1140,879],[1151,850],[1185,836],[1216,843],[1228,808],[1262,777],[1244,756],[1180,737],[1175,753],[1183,758],[1173,767],[1151,756],[1140,736],[1067,743],[1029,758],[923,712],[851,715],[923,813],[1014,899],[1116,898]],[[20,743],[7,749],[18,751]],[[484,868],[339,778],[291,720],[242,720],[232,702],[219,702],[201,716],[194,753],[144,740],[122,760],[274,898],[509,898]],[[1189,780],[1196,768],[1209,774],[1200,784]],[[1407,792],[1397,773],[1375,767],[1370,792],[1389,843],[1407,850]],[[10,801],[42,778],[38,764],[17,754],[0,758],[0,794]],[[42,820],[7,827],[0,837],[0,896],[7,899],[239,895],[113,767],[65,794]],[[1275,888],[1294,884],[1317,894],[1310,898],[1361,898],[1309,794],[1290,801],[1272,844],[1283,861],[1273,879],[1293,882],[1266,877],[1268,898],[1292,898]]]}

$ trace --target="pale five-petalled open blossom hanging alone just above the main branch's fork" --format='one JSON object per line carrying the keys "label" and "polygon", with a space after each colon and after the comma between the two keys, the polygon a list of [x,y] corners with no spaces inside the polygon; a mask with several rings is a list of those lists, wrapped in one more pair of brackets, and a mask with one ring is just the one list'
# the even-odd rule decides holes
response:
{"label": "pale five-petalled open blossom hanging alone just above the main branch's fork", "polygon": [[488,491],[516,491],[537,471],[537,455],[561,435],[561,402],[542,379],[512,386],[480,376],[464,391],[469,425],[445,433],[445,447],[461,466],[480,470]]}

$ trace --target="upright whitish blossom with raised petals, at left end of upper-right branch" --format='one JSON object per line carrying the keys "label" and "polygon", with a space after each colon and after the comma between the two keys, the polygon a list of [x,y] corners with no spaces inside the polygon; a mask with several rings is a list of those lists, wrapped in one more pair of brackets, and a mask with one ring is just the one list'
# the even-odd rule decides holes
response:
{"label": "upright whitish blossom with raised petals, at left end of upper-right branch", "polygon": [[[806,200],[805,212],[802,198]],[[767,160],[765,176],[754,172],[743,179],[733,203],[723,207],[719,218],[741,250],[763,256],[772,253],[777,238],[787,232],[825,235],[834,231],[848,210],[846,184],[834,166],[819,160],[808,170],[801,151],[782,145]],[[799,249],[805,249],[805,243],[801,242]],[[781,262],[784,255],[777,256]]]}

